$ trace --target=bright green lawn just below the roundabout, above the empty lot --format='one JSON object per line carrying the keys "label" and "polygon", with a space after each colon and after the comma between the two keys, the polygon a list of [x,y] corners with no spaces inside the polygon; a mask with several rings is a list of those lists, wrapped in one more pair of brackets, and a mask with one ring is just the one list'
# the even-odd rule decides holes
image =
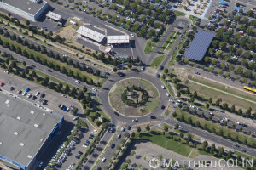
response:
{"label": "bright green lawn just below the roundabout, above the empty lot", "polygon": [[143,136],[141,138],[138,137],[138,133],[136,133],[136,139],[146,139],[152,142],[153,144],[160,145],[167,150],[172,150],[182,156],[189,156],[191,148],[187,144],[183,144],[183,142],[178,142],[178,136],[173,136],[173,139],[170,139],[171,135],[166,133],[164,136],[160,131],[150,131],[150,133],[144,131],[142,132]]}

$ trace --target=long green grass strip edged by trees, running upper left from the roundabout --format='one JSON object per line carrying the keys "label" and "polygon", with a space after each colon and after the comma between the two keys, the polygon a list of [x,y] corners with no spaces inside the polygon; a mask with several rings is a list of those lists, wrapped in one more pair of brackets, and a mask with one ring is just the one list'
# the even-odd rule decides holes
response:
{"label": "long green grass strip edged by trees, running upper left from the roundabout", "polygon": [[64,66],[64,67],[66,67],[67,72],[69,70],[72,70],[73,71],[73,75],[76,75],[78,73],[80,77],[85,76],[88,81],[90,79],[92,79],[94,82],[96,82],[99,79],[99,77],[96,77],[96,76],[93,76],[91,74],[88,74],[85,71],[80,71],[79,69],[73,68],[73,66],[71,66],[71,65],[67,65],[66,63],[62,63],[62,62],[60,62],[58,60],[49,58],[45,54],[41,54],[41,53],[39,53],[37,51],[34,51],[34,50],[30,49],[30,48],[22,46],[18,42],[11,41],[9,38],[3,37],[3,36],[0,36],[0,37],[1,37],[2,41],[3,41],[3,43],[4,42],[9,42],[9,44],[14,44],[15,48],[19,47],[21,49],[21,51],[23,51],[25,49],[28,55],[33,54],[34,57],[38,56],[39,59],[41,59],[41,61],[43,61],[43,59],[46,59],[48,63],[52,63],[53,65],[60,65],[60,68],[62,68],[62,66]]}

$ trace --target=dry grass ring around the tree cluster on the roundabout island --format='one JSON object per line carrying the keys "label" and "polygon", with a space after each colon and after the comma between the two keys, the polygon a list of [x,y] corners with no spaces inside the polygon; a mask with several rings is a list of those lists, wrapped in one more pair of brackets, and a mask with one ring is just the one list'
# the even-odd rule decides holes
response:
{"label": "dry grass ring around the tree cluster on the roundabout island", "polygon": [[[148,102],[145,105],[132,107],[123,103],[121,94],[124,93],[127,87],[141,87],[149,94]],[[141,98],[141,94],[137,92]],[[154,111],[160,102],[160,95],[154,85],[144,79],[130,78],[114,84],[109,93],[110,103],[113,108],[125,116],[143,116]]]}

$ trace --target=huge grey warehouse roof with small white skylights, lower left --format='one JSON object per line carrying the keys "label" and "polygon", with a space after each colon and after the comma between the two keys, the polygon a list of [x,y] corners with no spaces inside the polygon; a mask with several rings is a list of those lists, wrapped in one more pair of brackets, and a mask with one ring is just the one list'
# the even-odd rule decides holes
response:
{"label": "huge grey warehouse roof with small white skylights, lower left", "polygon": [[0,92],[0,156],[28,166],[63,116]]}

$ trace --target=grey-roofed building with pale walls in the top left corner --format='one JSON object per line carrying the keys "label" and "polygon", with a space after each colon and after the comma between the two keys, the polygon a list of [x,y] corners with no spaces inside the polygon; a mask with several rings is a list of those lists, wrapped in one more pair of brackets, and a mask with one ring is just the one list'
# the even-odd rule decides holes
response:
{"label": "grey-roofed building with pale walls in the top left corner", "polygon": [[42,0],[0,0],[0,8],[19,14],[27,20],[38,20],[48,8],[48,3]]}

